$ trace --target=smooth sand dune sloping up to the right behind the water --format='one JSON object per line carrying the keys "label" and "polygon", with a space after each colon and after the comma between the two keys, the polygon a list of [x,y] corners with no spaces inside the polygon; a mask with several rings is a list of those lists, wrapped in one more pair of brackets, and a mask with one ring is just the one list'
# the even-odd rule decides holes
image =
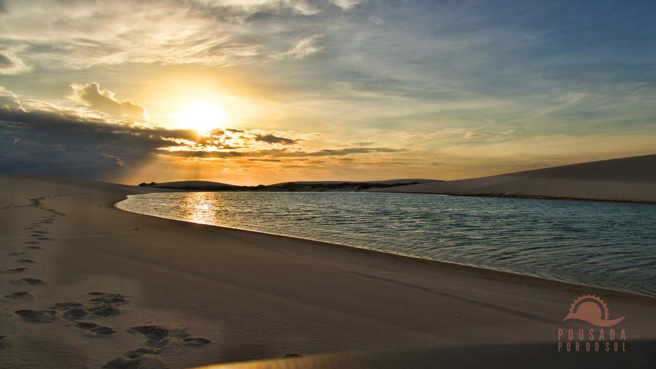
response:
{"label": "smooth sand dune sloping up to the right behind the water", "polygon": [[656,202],[656,155],[562,165],[458,181],[380,188],[373,191]]}

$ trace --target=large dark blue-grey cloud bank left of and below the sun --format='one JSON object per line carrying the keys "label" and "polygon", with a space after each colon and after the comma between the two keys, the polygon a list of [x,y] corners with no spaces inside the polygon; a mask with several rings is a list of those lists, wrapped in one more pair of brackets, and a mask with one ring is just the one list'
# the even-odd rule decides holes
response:
{"label": "large dark blue-grey cloud bank left of and below the sun", "polygon": [[[2,95],[1,93],[5,94]],[[39,106],[26,111],[0,90],[0,173],[33,173],[111,179],[152,159],[173,139],[196,133],[132,125],[84,116],[76,110]],[[15,96],[15,95],[14,95]]]}

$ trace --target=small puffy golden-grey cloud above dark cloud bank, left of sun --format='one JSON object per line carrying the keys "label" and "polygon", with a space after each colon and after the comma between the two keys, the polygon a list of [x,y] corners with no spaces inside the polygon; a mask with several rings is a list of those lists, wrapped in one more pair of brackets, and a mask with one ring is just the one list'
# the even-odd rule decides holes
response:
{"label": "small puffy golden-grey cloud above dark cloud bank, left of sun", "polygon": [[100,90],[98,83],[92,82],[82,85],[72,83],[73,92],[68,98],[81,102],[92,109],[106,112],[114,118],[135,119],[136,121],[148,120],[146,109],[143,106],[133,104],[129,101],[118,101],[114,98],[115,93],[108,90]]}

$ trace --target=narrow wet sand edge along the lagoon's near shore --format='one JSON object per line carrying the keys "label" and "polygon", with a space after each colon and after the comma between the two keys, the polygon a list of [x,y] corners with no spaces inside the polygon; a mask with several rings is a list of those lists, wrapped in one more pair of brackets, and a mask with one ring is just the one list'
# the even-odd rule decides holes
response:
{"label": "narrow wet sand edge along the lagoon's near shore", "polygon": [[[197,192],[197,191],[192,191],[192,192]],[[154,193],[154,192],[149,192],[149,193]],[[485,267],[480,267],[478,265],[468,265],[464,263],[456,263],[453,261],[443,261],[443,260],[435,260],[435,259],[425,259],[422,257],[417,257],[413,255],[405,255],[402,253],[393,253],[393,252],[387,252],[387,251],[380,251],[380,250],[373,250],[369,248],[361,248],[359,246],[351,246],[347,244],[339,244],[337,242],[327,242],[327,241],[321,241],[321,240],[315,240],[312,238],[302,238],[302,237],[297,237],[297,236],[290,236],[287,234],[277,234],[277,233],[269,233],[269,232],[262,232],[259,230],[251,230],[251,229],[245,229],[245,228],[235,228],[235,227],[225,227],[225,226],[220,226],[220,225],[209,225],[205,223],[195,223],[195,222],[190,222],[190,221],[185,221],[182,219],[175,219],[175,218],[167,218],[167,217],[161,217],[157,215],[151,215],[151,214],[144,214],[144,213],[138,213],[136,211],[130,211],[126,209],[121,209],[118,207],[118,204],[120,202],[123,202],[129,198],[129,196],[133,195],[127,195],[125,198],[115,202],[113,204],[113,207],[119,211],[125,211],[127,213],[133,213],[133,214],[138,214],[138,215],[144,215],[146,217],[153,217],[155,219],[167,219],[171,221],[180,221],[184,223],[189,223],[193,225],[199,225],[203,227],[216,227],[216,228],[222,228],[222,229],[230,229],[230,230],[236,230],[240,232],[251,232],[255,234],[261,234],[265,236],[274,236],[274,237],[281,237],[281,238],[287,238],[291,240],[297,240],[301,242],[312,242],[314,244],[318,244],[320,246],[325,246],[325,247],[330,247],[330,248],[339,248],[342,250],[346,251],[359,251],[359,252],[364,252],[364,253],[375,253],[376,255],[384,255],[384,257],[400,257],[404,259],[408,259],[412,263],[419,262],[419,263],[433,263],[437,267],[440,268],[451,268],[453,270],[465,270],[465,271],[470,271],[474,273],[481,274],[482,276],[487,276],[490,278],[497,278],[499,280],[506,280],[510,282],[522,282],[522,278],[526,278],[527,282],[536,282],[537,284],[542,284],[544,287],[548,288],[562,288],[563,286],[568,286],[569,288],[587,288],[588,290],[593,290],[593,293],[598,293],[598,294],[604,294],[604,295],[613,295],[615,297],[623,297],[623,298],[629,298],[629,297],[639,297],[639,298],[644,298],[647,299],[653,304],[653,306],[656,306],[656,296],[652,295],[646,295],[646,294],[640,294],[640,293],[632,293],[632,292],[626,292],[626,291],[620,291],[620,290],[612,290],[610,288],[602,288],[602,287],[596,287],[596,286],[588,286],[586,284],[576,284],[573,282],[567,282],[564,280],[557,280],[557,279],[550,279],[550,278],[544,278],[541,276],[532,276],[529,274],[522,274],[522,273],[516,273],[516,272],[510,272],[510,271],[500,271],[498,269],[490,269],[490,268],[485,268]],[[449,195],[447,195],[449,196]]]}

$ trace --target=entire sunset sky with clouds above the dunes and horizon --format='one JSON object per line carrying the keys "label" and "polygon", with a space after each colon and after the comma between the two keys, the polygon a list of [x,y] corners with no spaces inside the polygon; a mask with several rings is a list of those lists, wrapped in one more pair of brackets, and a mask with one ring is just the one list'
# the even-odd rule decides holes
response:
{"label": "entire sunset sky with clouds above the dunes and horizon", "polygon": [[451,180],[655,154],[655,8],[0,0],[0,173]]}

